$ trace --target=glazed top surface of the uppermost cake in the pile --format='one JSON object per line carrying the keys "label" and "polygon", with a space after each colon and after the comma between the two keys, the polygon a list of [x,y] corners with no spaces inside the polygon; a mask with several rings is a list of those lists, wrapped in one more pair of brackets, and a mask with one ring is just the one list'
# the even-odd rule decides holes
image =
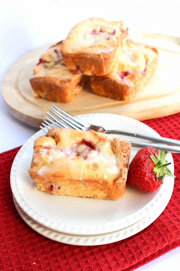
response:
{"label": "glazed top surface of the uppermost cake in the pile", "polygon": [[102,18],[89,18],[75,25],[63,41],[62,50],[69,54],[100,54],[113,51],[120,39],[128,36],[123,21],[109,22]]}

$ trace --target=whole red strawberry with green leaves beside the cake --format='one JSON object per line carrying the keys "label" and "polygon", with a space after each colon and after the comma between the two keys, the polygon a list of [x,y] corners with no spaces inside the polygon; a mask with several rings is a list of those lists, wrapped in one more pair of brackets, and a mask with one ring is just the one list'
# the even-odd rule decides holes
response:
{"label": "whole red strawberry with green leaves beside the cake", "polygon": [[163,183],[164,175],[175,177],[165,160],[168,151],[145,147],[134,156],[128,171],[127,183],[144,192],[152,192]]}

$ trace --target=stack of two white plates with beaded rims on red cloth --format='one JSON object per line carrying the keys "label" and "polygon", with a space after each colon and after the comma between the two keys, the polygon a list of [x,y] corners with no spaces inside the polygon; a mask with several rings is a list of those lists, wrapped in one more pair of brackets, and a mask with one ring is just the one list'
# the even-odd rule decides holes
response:
{"label": "stack of two white plates with beaded rims on red cloth", "polygon": [[[86,114],[78,116],[107,130],[126,130],[158,135],[147,125],[120,115]],[[171,198],[174,178],[165,177],[158,191],[144,193],[127,185],[117,201],[51,195],[35,190],[28,169],[33,143],[45,133],[40,130],[21,147],[11,169],[11,189],[16,209],[35,231],[52,240],[74,245],[107,244],[127,238],[150,225],[165,209]],[[145,140],[125,137],[131,141]],[[132,148],[130,161],[138,148]],[[169,169],[174,172],[172,155]]]}

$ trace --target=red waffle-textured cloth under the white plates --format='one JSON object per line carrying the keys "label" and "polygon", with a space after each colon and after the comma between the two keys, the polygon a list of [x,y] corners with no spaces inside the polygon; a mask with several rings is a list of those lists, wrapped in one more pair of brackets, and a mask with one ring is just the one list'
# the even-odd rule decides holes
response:
{"label": "red waffle-textured cloth under the white plates", "polygon": [[[180,139],[180,114],[144,121],[159,134]],[[174,191],[164,212],[147,228],[102,246],[71,246],[33,231],[13,204],[9,175],[19,148],[0,154],[0,270],[131,271],[180,245],[180,154],[173,154]]]}

